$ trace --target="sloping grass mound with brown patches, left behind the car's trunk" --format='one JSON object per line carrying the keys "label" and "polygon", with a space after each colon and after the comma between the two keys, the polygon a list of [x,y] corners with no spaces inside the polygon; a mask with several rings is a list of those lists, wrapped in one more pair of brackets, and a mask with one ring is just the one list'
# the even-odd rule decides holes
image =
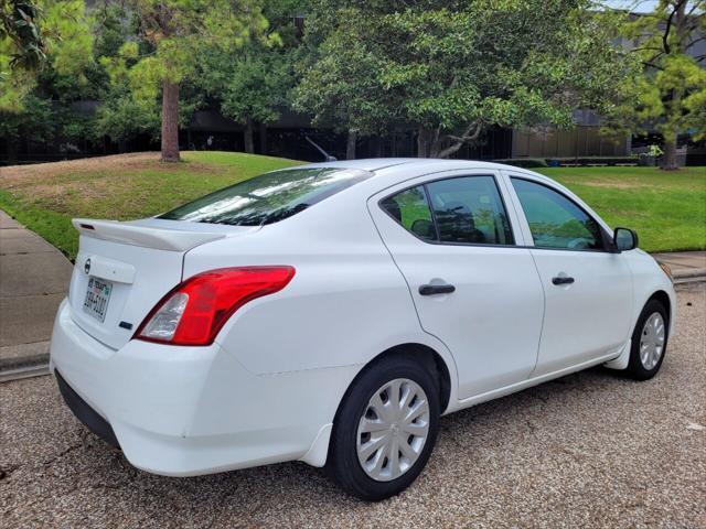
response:
{"label": "sloping grass mound with brown patches, left behind the car's trunk", "polygon": [[128,220],[171,209],[211,191],[302,162],[236,152],[158,153],[0,168],[0,208],[69,258],[78,251],[74,217]]}

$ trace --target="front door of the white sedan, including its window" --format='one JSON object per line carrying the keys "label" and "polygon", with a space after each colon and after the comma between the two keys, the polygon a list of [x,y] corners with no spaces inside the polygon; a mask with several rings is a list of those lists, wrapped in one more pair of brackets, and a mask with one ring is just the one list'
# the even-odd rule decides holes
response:
{"label": "front door of the white sedan, including its window", "polygon": [[593,214],[565,190],[510,174],[512,199],[532,245],[546,307],[533,376],[593,361],[628,341],[632,276]]}

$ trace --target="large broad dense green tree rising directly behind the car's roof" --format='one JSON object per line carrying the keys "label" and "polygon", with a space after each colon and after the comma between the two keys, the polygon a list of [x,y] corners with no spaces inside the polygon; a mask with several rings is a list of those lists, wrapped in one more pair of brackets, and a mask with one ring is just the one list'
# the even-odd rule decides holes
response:
{"label": "large broad dense green tree rising directly behind the car's roof", "polygon": [[[488,127],[571,127],[601,110],[621,71],[588,0],[318,0],[318,47],[297,89],[314,122],[363,134],[417,130],[419,156],[446,158]],[[318,43],[321,45],[318,46]]]}

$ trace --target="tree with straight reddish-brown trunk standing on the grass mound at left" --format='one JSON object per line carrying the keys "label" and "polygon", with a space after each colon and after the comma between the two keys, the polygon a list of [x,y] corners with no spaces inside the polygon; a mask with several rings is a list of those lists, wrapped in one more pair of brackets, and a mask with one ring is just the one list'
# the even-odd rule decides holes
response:
{"label": "tree with straight reddish-brown trunk standing on the grass mound at left", "polygon": [[258,2],[246,0],[129,0],[149,54],[133,66],[162,93],[162,161],[179,160],[179,93],[208,46],[243,44],[267,28]]}

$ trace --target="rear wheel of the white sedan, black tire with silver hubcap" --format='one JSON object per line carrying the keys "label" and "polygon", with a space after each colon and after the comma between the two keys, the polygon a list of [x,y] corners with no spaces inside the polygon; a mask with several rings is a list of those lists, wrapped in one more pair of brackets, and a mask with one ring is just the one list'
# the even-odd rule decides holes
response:
{"label": "rear wheel of the white sedan, black tire with silver hubcap", "polygon": [[[353,381],[333,423],[327,462],[329,475],[341,488],[360,499],[377,501],[399,494],[417,478],[431,455],[439,429],[436,375],[432,360],[420,363],[394,355],[366,367]],[[393,408],[395,399],[391,398],[395,392],[400,396],[397,400],[403,402],[399,408],[404,411],[399,413]],[[373,404],[375,397],[379,400]],[[415,411],[409,413],[413,409]],[[416,418],[409,423],[400,420],[415,413]],[[359,428],[363,429],[363,425],[375,431],[362,433]],[[366,457],[371,446],[377,445],[381,447],[371,452],[365,462],[367,469],[364,469],[361,458]],[[398,449],[397,458],[393,461],[395,447]],[[416,460],[409,457],[415,453]]]}

